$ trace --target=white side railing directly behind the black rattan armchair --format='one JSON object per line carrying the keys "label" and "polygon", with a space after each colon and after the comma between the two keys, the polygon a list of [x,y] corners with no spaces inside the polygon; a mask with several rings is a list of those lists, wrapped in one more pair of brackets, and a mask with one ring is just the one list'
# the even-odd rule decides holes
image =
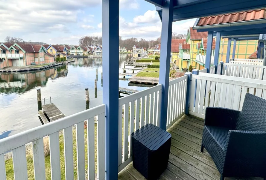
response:
{"label": "white side railing directly behind the black rattan armchair", "polygon": [[266,81],[209,73],[193,74],[189,114],[204,118],[206,106],[241,111],[247,92],[266,99]]}

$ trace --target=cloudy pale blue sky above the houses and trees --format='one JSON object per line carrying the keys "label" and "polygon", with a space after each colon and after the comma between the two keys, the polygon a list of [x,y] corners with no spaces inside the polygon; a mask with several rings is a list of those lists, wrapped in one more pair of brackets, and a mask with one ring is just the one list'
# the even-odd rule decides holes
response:
{"label": "cloudy pale blue sky above the houses and trees", "polygon": [[[0,42],[6,36],[48,44],[78,44],[82,36],[102,34],[101,0],[0,0]],[[186,33],[195,19],[174,22]],[[161,22],[155,6],[144,0],[120,0],[120,35],[156,39]]]}

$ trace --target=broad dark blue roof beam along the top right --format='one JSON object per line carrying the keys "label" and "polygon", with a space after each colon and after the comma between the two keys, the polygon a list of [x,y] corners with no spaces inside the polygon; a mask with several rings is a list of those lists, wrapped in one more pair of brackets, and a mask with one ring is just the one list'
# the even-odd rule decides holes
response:
{"label": "broad dark blue roof beam along the top right", "polygon": [[[150,0],[153,1],[153,0]],[[240,12],[250,9],[264,8],[266,1],[261,0],[177,0],[174,7],[173,21]],[[162,16],[162,8],[156,7],[159,16]]]}

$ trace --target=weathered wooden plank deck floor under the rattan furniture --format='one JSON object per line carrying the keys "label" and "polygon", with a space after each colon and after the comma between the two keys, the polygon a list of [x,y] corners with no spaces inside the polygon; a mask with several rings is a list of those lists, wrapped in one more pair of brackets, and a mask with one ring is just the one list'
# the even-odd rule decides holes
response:
{"label": "weathered wooden plank deck floor under the rattan furniture", "polygon": [[[162,180],[219,180],[212,158],[204,149],[200,152],[203,119],[184,115],[168,132],[172,135],[168,167],[159,177]],[[132,162],[119,174],[120,180],[145,179]],[[262,178],[225,178],[226,180],[262,180]]]}

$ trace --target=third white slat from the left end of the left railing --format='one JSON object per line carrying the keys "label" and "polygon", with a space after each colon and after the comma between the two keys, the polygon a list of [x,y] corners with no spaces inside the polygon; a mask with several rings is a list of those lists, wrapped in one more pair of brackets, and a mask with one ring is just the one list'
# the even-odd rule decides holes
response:
{"label": "third white slat from the left end of the left railing", "polygon": [[45,180],[43,138],[32,142],[34,179]]}

